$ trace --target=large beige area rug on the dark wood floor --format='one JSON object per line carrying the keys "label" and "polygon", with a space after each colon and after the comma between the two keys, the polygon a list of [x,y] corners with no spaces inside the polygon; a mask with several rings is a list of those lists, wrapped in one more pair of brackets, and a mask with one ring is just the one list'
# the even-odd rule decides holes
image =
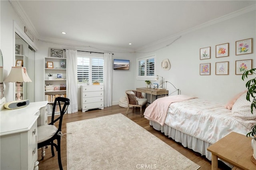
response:
{"label": "large beige area rug on the dark wood floor", "polygon": [[67,123],[68,170],[200,168],[121,113]]}

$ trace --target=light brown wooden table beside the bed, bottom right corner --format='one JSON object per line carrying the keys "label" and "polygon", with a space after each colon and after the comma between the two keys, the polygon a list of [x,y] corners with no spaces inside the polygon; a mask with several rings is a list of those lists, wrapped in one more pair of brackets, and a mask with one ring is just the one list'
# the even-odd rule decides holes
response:
{"label": "light brown wooden table beside the bed, bottom right corner", "polygon": [[212,152],[212,170],[218,170],[218,158],[241,170],[255,170],[256,165],[250,160],[253,149],[252,138],[231,132],[207,148]]}

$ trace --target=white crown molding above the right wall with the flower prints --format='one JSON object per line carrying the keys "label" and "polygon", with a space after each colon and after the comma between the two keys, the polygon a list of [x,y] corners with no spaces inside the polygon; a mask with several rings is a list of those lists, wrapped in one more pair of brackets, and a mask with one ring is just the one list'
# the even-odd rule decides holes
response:
{"label": "white crown molding above the right wall with the flower prints", "polygon": [[231,19],[231,18],[234,18],[234,17],[236,17],[236,16],[240,16],[240,15],[246,14],[246,13],[248,13],[248,12],[252,12],[252,11],[254,11],[254,10],[256,10],[256,5],[251,5],[251,6],[248,6],[248,7],[246,7],[246,8],[242,8],[242,9],[237,10],[237,11],[235,11],[235,12],[232,12],[232,13],[230,13],[230,14],[221,16],[221,17],[216,18],[216,19],[214,19],[214,20],[210,20],[210,21],[208,21],[208,22],[206,22],[206,23],[204,23],[204,24],[200,24],[200,25],[195,26],[195,27],[193,27],[193,28],[190,28],[190,29],[188,29],[188,30],[179,32],[179,33],[177,33],[177,34],[174,34],[174,35],[172,35],[172,36],[168,36],[168,37],[163,38],[163,39],[161,39],[161,40],[158,40],[158,41],[156,41],[156,42],[153,42],[153,43],[150,43],[150,44],[148,44],[148,45],[144,45],[144,46],[142,46],[142,47],[139,47],[139,48],[135,49],[135,51],[140,51],[140,50],[142,50],[142,49],[145,49],[145,48],[148,48],[148,47],[152,47],[152,46],[158,45],[158,44],[160,44],[160,43],[165,43],[165,42],[171,41],[171,40],[173,40],[174,38],[177,38],[178,36],[182,36],[182,35],[184,35],[184,34],[188,34],[188,33],[190,33],[190,32],[194,32],[194,31],[199,30],[199,29],[201,29],[201,28],[205,28],[205,27],[208,27],[208,26],[217,24],[217,23],[219,23],[219,22],[223,22],[223,21],[225,21],[225,20],[229,20],[229,19]]}

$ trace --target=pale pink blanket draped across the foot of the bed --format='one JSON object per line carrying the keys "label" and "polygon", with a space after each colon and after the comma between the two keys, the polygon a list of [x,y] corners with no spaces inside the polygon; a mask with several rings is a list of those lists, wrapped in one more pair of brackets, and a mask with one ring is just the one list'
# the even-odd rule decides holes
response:
{"label": "pale pink blanket draped across the foot of the bed", "polygon": [[144,112],[144,117],[148,120],[155,121],[160,125],[164,125],[168,108],[171,103],[184,101],[188,99],[194,99],[196,97],[186,95],[173,95],[168,97],[162,97],[151,103]]}

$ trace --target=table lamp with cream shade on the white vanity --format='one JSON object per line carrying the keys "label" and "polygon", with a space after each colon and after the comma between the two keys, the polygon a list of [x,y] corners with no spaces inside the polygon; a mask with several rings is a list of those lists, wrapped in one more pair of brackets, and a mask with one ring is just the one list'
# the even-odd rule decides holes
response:
{"label": "table lamp with cream shade on the white vanity", "polygon": [[28,73],[25,67],[12,67],[10,74],[4,82],[16,82],[17,84],[17,101],[20,101],[20,83],[22,82],[32,82],[28,77]]}

